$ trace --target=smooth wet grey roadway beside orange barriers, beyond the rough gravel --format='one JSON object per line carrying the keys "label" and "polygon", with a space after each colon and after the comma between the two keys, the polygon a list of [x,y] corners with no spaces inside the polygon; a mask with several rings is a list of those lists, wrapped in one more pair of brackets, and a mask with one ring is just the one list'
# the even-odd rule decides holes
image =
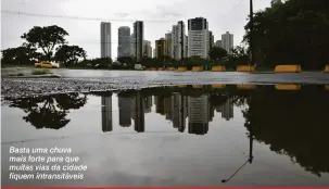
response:
{"label": "smooth wet grey roadway beside orange barriers, beyond the rough gravel", "polygon": [[156,72],[156,71],[94,71],[94,70],[54,70],[54,74],[65,78],[118,81],[137,80],[148,84],[329,84],[329,74],[274,74],[274,73],[236,73],[236,72]]}

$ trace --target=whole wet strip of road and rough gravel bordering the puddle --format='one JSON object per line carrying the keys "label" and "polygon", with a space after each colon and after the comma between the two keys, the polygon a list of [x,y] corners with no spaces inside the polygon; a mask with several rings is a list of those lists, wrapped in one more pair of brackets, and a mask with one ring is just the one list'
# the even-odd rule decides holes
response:
{"label": "whole wet strip of road and rough gravel bordering the puddle", "polygon": [[[28,73],[28,70],[20,70]],[[156,72],[52,70],[62,78],[1,78],[2,97],[24,97],[62,92],[140,89],[192,84],[329,84],[327,73],[274,74],[236,72]]]}

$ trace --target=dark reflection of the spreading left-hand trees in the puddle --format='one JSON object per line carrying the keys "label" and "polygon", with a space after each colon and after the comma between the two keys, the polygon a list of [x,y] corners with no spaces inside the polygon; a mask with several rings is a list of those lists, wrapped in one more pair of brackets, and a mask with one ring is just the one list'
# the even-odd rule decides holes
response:
{"label": "dark reflection of the spreading left-hand trees in the puddle", "polygon": [[11,108],[18,108],[27,113],[23,119],[37,129],[60,129],[69,122],[66,118],[69,110],[77,110],[84,106],[87,102],[87,97],[79,93],[62,93],[7,100],[10,100]]}

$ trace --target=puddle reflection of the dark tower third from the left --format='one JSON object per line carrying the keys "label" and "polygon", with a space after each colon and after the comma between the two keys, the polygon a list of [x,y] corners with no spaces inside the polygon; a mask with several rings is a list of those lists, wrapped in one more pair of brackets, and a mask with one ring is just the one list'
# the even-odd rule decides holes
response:
{"label": "puddle reflection of the dark tower third from the left", "polygon": [[134,113],[134,121],[135,121],[135,130],[138,133],[143,133],[144,131],[144,127],[145,127],[145,123],[144,123],[144,99],[140,96],[139,92],[137,92],[136,97],[135,97],[135,110]]}

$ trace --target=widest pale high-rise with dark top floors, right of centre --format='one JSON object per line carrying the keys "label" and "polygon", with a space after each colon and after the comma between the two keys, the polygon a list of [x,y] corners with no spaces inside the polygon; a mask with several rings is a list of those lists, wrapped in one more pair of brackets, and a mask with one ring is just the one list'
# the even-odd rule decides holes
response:
{"label": "widest pale high-rise with dark top floors, right of centre", "polygon": [[208,58],[208,23],[204,17],[188,21],[188,56]]}

